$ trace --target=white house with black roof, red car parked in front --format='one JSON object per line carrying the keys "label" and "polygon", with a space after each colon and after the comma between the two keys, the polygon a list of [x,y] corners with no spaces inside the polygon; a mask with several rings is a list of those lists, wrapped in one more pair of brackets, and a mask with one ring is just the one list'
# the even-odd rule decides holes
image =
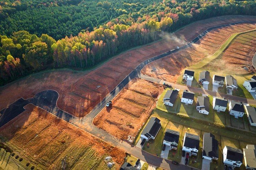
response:
{"label": "white house with black roof, red car parked in front", "polygon": [[186,132],[183,139],[182,150],[185,152],[189,152],[190,156],[191,155],[196,156],[199,149],[199,143],[200,143],[199,136]]}

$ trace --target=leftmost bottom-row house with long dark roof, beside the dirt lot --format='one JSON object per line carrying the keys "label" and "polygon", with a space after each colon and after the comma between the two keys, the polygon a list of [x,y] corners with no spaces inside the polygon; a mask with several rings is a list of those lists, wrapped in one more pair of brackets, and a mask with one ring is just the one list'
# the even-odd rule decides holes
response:
{"label": "leftmost bottom-row house with long dark roof, beside the dirt lot", "polygon": [[160,120],[157,119],[156,117],[152,117],[150,118],[149,122],[141,132],[140,137],[143,139],[146,139],[146,141],[148,141],[149,139],[155,139],[160,128],[161,128]]}

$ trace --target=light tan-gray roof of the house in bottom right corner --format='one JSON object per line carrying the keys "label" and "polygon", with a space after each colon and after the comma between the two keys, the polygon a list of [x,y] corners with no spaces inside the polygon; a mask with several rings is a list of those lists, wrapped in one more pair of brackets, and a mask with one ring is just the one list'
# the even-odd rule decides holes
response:
{"label": "light tan-gray roof of the house in bottom right corner", "polygon": [[245,166],[256,169],[256,150],[255,145],[247,144],[244,148]]}

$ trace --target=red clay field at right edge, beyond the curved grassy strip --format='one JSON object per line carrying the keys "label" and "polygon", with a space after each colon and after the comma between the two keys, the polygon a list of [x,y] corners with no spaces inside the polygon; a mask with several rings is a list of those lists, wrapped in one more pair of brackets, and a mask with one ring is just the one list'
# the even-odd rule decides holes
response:
{"label": "red clay field at right edge, beyond the curved grassy strip", "polygon": [[[256,31],[239,35],[223,52],[220,58],[205,66],[205,69],[246,74],[255,72],[252,59],[256,51]],[[225,68],[219,63],[225,64]]]}

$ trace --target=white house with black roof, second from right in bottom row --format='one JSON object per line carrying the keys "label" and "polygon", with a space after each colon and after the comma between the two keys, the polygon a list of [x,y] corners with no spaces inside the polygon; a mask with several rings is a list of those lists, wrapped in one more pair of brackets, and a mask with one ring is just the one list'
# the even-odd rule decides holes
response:
{"label": "white house with black roof, second from right in bottom row", "polygon": [[225,146],[223,149],[223,163],[231,167],[240,167],[243,164],[243,152],[240,149]]}

